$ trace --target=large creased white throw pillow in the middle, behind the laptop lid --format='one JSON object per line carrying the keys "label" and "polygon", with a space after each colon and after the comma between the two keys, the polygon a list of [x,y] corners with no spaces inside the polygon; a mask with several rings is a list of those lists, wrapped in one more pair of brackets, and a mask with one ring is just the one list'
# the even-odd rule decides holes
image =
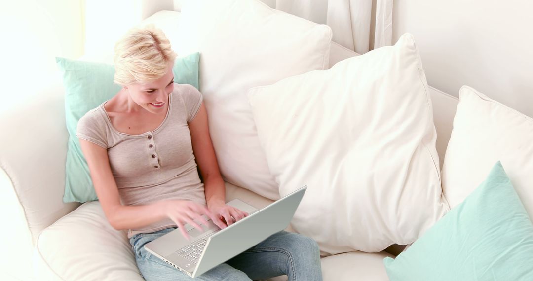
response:
{"label": "large creased white throw pillow in the middle, behind the laptop lid", "polygon": [[249,91],[292,226],[324,253],[409,244],[447,212],[430,94],[413,37]]}

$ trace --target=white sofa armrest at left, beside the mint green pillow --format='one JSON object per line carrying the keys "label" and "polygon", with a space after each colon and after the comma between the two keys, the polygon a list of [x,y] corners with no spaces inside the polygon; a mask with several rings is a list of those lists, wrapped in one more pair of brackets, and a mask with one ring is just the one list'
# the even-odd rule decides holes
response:
{"label": "white sofa armrest at left, beside the mint green pillow", "polygon": [[[0,111],[0,272],[33,279],[31,255],[39,232],[79,206],[62,201],[68,133],[59,73]],[[26,269],[27,268],[27,269]],[[31,277],[30,277],[31,276]]]}

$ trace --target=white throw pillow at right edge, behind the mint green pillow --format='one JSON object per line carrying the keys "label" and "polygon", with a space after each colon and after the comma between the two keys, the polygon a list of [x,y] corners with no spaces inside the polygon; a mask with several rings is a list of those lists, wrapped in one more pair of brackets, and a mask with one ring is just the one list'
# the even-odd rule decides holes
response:
{"label": "white throw pillow at right edge, behind the mint green pillow", "polygon": [[463,86],[442,166],[450,208],[463,202],[497,161],[533,218],[533,119]]}

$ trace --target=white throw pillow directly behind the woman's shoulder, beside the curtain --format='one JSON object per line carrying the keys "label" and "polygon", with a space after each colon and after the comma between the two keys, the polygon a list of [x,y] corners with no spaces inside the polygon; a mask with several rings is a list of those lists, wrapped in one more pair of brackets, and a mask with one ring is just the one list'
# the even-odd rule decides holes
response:
{"label": "white throw pillow directly behind the woman's shoulder, beside the curtain", "polygon": [[179,54],[200,52],[200,92],[225,180],[278,199],[257,138],[247,90],[328,68],[332,31],[256,0],[192,0],[183,4]]}

